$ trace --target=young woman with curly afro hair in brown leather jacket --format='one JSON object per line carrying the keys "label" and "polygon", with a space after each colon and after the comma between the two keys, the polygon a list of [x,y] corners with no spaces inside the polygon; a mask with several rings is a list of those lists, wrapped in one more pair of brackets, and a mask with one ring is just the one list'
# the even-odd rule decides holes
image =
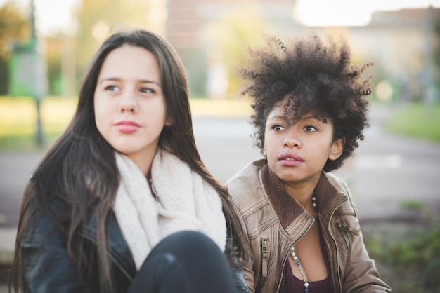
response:
{"label": "young woman with curly afro hair in brown leather jacket", "polygon": [[351,193],[330,171],[368,127],[370,67],[316,32],[269,37],[240,71],[264,158],[228,182],[252,247],[252,292],[390,292],[370,259]]}

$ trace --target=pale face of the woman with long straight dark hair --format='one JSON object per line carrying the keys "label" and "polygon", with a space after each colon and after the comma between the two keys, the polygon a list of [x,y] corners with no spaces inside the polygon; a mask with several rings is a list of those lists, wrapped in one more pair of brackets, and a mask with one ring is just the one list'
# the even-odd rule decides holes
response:
{"label": "pale face of the woman with long straight dark hair", "polygon": [[150,170],[164,125],[171,125],[153,53],[124,45],[105,58],[94,95],[95,122],[104,139]]}

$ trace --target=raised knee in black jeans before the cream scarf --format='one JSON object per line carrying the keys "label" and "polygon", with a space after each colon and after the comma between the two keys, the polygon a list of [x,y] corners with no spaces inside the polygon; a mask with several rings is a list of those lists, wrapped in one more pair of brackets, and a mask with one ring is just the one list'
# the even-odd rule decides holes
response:
{"label": "raised knee in black jeans before the cream scarf", "polygon": [[181,231],[148,254],[127,293],[234,293],[226,256],[207,236]]}

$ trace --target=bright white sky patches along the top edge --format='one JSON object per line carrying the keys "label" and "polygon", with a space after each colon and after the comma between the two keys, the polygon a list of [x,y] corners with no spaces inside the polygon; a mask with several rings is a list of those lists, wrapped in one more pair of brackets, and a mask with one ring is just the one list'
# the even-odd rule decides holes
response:
{"label": "bright white sky patches along the top edge", "polygon": [[[3,5],[8,0],[0,0]],[[23,9],[31,0],[13,0]],[[34,0],[37,30],[48,34],[54,30],[72,33],[72,8],[79,0]],[[297,0],[297,20],[309,26],[366,25],[373,11],[400,8],[439,8],[440,0]],[[317,9],[318,8],[318,9]]]}

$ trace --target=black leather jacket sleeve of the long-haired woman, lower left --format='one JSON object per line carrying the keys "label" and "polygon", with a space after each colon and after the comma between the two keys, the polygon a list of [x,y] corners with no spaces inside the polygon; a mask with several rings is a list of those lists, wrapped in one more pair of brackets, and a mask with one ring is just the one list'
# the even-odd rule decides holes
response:
{"label": "black leather jacket sleeve of the long-haired woman, lower left", "polygon": [[67,254],[65,233],[46,214],[25,234],[20,248],[28,292],[91,292]]}

